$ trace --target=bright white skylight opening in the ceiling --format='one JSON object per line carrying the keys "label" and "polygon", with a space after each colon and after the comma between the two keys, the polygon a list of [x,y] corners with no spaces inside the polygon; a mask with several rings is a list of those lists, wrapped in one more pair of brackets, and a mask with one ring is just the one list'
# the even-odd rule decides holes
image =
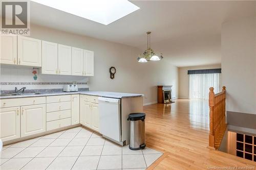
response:
{"label": "bright white skylight opening in the ceiling", "polygon": [[32,0],[76,16],[109,25],[140,9],[127,0]]}

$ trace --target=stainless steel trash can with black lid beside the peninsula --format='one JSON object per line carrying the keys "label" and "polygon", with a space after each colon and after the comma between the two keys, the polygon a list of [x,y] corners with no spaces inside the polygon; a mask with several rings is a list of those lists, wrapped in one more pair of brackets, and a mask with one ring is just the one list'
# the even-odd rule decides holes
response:
{"label": "stainless steel trash can with black lid beside the peninsula", "polygon": [[141,150],[145,144],[145,113],[131,113],[127,120],[130,120],[130,145],[131,150]]}

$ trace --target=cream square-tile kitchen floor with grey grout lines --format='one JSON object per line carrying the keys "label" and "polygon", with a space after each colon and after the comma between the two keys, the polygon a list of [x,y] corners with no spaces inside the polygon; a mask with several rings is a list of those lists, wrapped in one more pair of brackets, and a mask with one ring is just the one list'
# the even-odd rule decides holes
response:
{"label": "cream square-tile kitchen floor with grey grout lines", "polygon": [[161,152],[120,147],[86,128],[77,127],[4,146],[5,169],[146,169]]}

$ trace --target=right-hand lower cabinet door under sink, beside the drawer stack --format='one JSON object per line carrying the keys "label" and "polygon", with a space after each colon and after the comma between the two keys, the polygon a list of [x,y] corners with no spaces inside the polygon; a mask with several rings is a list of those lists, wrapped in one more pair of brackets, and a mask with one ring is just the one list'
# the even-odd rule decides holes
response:
{"label": "right-hand lower cabinet door under sink, beside the drawer stack", "polygon": [[21,137],[46,131],[46,105],[21,107]]}

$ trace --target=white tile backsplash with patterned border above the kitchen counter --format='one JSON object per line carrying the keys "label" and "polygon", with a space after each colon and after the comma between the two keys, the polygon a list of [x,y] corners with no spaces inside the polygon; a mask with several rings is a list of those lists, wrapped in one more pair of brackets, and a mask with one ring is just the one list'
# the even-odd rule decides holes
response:
{"label": "white tile backsplash with patterned border above the kitchen counter", "polygon": [[17,66],[0,66],[0,89],[13,90],[15,87],[27,89],[57,89],[63,88],[64,84],[77,82],[79,88],[89,88],[89,78],[82,76],[42,75],[37,71],[37,80],[33,78],[33,68]]}

